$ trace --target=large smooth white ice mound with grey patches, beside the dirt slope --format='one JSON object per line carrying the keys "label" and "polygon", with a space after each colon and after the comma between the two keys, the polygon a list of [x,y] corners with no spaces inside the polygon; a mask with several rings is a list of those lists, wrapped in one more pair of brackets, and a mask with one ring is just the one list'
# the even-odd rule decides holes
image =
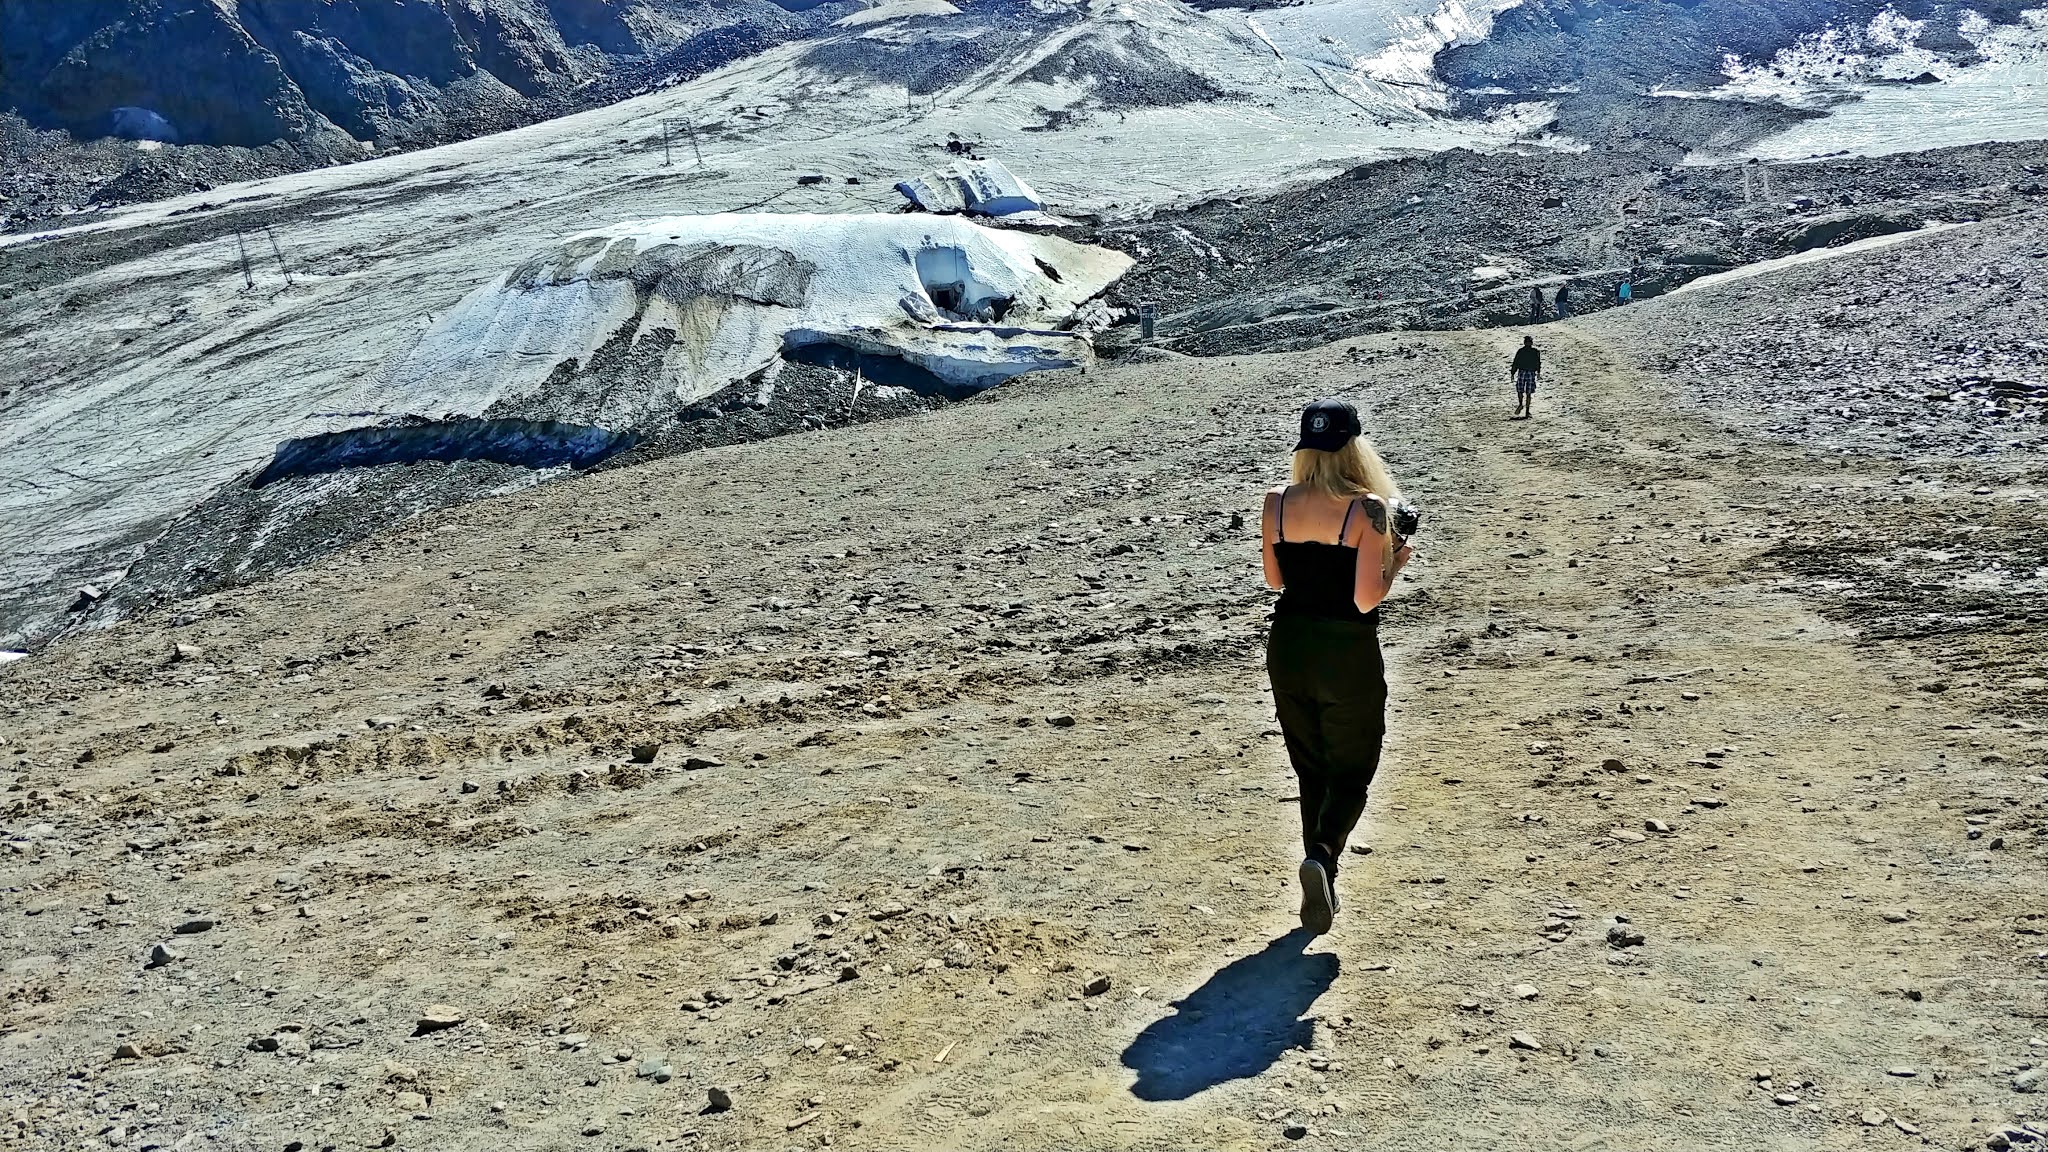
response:
{"label": "large smooth white ice mound with grey patches, beside the dirt slope", "polygon": [[[952,215],[674,215],[571,236],[442,316],[352,408],[481,416],[539,396],[606,344],[651,348],[625,424],[694,400],[784,353],[838,344],[967,387],[1092,361],[1063,330],[1130,256]],[[999,318],[995,314],[1001,314]],[[676,338],[670,340],[668,336]],[[575,367],[571,365],[571,367]],[[545,398],[543,398],[545,400]]]}

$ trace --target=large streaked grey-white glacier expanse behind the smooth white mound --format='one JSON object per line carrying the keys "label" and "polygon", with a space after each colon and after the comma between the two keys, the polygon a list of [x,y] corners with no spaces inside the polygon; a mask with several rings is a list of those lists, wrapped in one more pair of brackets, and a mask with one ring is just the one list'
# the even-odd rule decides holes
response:
{"label": "large streaked grey-white glacier expanse behind the smooth white mound", "polygon": [[[823,41],[590,113],[0,238],[0,277],[12,260],[47,258],[0,307],[0,363],[23,381],[0,398],[0,646],[59,619],[78,584],[117,578],[281,441],[430,408],[440,392],[391,392],[397,379],[426,387],[395,363],[551,238],[690,213],[895,211],[893,184],[948,162],[950,133],[1008,162],[1063,215],[1505,146],[1548,111],[1446,119],[1427,70],[1415,78],[1452,37],[1483,35],[1497,2],[1315,0],[1260,14],[1264,35],[1241,10],[1165,0],[1049,0],[1071,23],[1032,37],[1004,33],[1001,12],[872,8],[872,23]],[[891,51],[930,59],[983,35],[999,51],[958,53],[977,64],[915,98],[889,66],[862,66]],[[1200,76],[1225,96],[1104,98],[1143,70]],[[680,133],[664,164],[662,121],[676,119],[694,129],[702,166]],[[827,180],[799,187],[801,174]]]}

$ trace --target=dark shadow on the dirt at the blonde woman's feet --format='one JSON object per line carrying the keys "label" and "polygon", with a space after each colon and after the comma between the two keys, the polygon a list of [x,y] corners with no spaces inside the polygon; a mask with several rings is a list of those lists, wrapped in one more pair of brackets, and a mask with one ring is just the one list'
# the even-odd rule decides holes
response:
{"label": "dark shadow on the dirt at the blonde woman's feet", "polygon": [[1139,1074],[1130,1095],[1141,1101],[1184,1101],[1225,1080],[1257,1076],[1290,1047],[1311,1047],[1315,1021],[1300,1019],[1337,980],[1335,953],[1305,953],[1307,929],[1231,961],[1174,1015],[1153,1021],[1124,1050],[1124,1068]]}

